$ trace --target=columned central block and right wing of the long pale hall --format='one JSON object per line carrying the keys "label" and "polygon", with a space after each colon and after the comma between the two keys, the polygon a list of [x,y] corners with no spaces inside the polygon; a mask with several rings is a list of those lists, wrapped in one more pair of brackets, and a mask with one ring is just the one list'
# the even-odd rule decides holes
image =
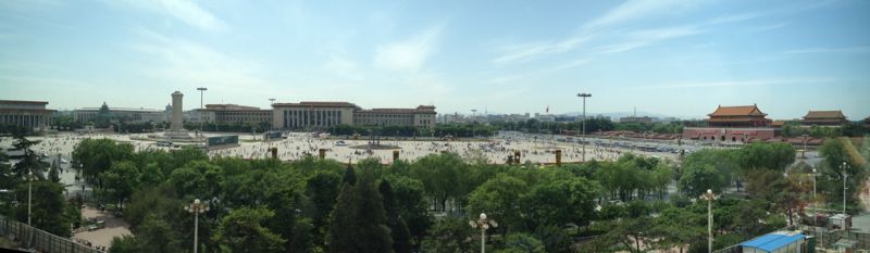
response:
{"label": "columned central block and right wing of the long pale hall", "polygon": [[349,102],[299,102],[272,104],[274,129],[326,129],[337,125],[435,127],[435,106],[371,109]]}

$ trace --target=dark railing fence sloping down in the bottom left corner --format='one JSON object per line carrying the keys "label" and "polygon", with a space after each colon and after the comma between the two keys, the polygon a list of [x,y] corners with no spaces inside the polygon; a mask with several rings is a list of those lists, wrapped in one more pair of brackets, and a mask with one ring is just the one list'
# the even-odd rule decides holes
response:
{"label": "dark railing fence sloping down in the bottom left corner", "polygon": [[[74,242],[69,238],[51,235],[50,232],[39,230],[14,219],[9,219],[2,215],[0,215],[0,236],[21,242],[22,248],[27,248],[27,244],[30,244],[33,249],[39,252],[102,253],[102,251]],[[30,236],[32,238],[28,240]],[[27,243],[28,241],[30,243]]]}

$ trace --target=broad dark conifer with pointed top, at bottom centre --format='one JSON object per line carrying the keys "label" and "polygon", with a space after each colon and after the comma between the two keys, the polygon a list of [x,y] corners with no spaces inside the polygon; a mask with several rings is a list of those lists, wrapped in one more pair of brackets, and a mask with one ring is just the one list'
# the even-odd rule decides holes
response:
{"label": "broad dark conifer with pointed top, at bottom centre", "polygon": [[331,219],[330,252],[393,252],[383,200],[371,170],[364,170],[356,185],[344,185]]}

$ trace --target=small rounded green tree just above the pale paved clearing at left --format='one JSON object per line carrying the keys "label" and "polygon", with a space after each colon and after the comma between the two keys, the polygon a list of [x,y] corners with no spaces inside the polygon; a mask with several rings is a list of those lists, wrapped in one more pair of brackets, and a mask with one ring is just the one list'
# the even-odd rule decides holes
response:
{"label": "small rounded green tree just above the pale paved clearing at left", "polygon": [[112,164],[112,168],[100,174],[105,190],[117,200],[121,210],[124,201],[133,195],[133,191],[139,186],[139,169],[132,162],[124,161]]}

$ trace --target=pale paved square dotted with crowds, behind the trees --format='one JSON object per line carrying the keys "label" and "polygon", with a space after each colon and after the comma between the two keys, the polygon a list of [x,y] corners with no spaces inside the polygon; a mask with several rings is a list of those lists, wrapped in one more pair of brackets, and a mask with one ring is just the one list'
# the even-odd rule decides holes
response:
{"label": "pale paved square dotted with crowds, behind the trees", "polygon": [[[207,136],[226,136],[238,134],[207,134]],[[77,135],[77,134],[60,134],[44,137],[30,137],[30,140],[41,140],[37,146],[33,147],[38,153],[47,153],[55,156],[61,156],[67,161],[71,160],[72,151],[75,144],[87,138],[109,138],[122,142],[128,142],[134,146],[138,152],[149,149],[163,149],[169,150],[172,148],[158,147],[157,141],[146,140],[146,135]],[[364,138],[364,137],[363,137]],[[582,146],[576,142],[557,141],[558,136],[531,136],[531,135],[500,135],[485,140],[451,140],[451,141],[433,141],[433,140],[381,140],[382,144],[395,146],[399,149],[399,154],[402,160],[415,161],[420,157],[437,154],[442,152],[456,152],[463,157],[484,157],[488,163],[501,164],[505,163],[508,155],[512,155],[514,151],[522,152],[522,162],[530,161],[532,163],[555,163],[556,155],[554,150],[562,150],[562,162],[580,162],[582,161]],[[291,132],[286,139],[263,142],[260,135],[239,135],[239,147],[212,150],[209,152],[210,156],[236,156],[244,159],[258,159],[269,155],[270,148],[278,148],[278,157],[282,161],[299,160],[307,155],[318,155],[318,150],[326,149],[326,157],[336,161],[347,162],[368,159],[380,157],[382,162],[388,163],[393,161],[391,149],[387,150],[372,150],[369,152],[365,149],[353,149],[355,146],[364,146],[368,140],[350,140],[350,139],[336,139],[336,138],[315,138],[312,134],[308,132]],[[344,144],[337,144],[341,140]],[[589,139],[599,140],[599,139]],[[12,147],[14,140],[9,137],[0,139],[0,147]],[[606,141],[606,140],[602,140]],[[602,147],[595,143],[586,147],[586,160],[614,160],[624,153],[635,153],[641,155],[658,156],[666,159],[675,159],[675,154],[670,152],[643,152],[639,150]],[[73,182],[75,184],[75,182]]]}

